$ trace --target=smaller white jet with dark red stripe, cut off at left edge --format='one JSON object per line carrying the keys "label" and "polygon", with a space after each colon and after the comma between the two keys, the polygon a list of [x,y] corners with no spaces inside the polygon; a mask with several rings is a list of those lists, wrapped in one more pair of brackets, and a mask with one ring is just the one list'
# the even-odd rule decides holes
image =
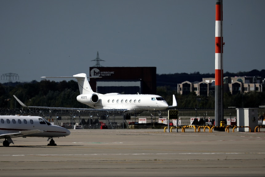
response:
{"label": "smaller white jet with dark red stripe, cut off at left edge", "polygon": [[[0,139],[8,147],[15,137],[48,137],[48,146],[56,146],[53,138],[70,135],[64,127],[53,125],[39,116],[0,115]],[[14,143],[13,143],[14,144]]]}

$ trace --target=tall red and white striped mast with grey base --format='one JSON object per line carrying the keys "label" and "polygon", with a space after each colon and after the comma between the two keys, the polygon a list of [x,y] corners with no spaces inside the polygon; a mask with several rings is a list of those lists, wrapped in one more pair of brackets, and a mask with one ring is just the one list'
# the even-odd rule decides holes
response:
{"label": "tall red and white striped mast with grey base", "polygon": [[223,120],[223,0],[216,0],[215,21],[215,126]]}

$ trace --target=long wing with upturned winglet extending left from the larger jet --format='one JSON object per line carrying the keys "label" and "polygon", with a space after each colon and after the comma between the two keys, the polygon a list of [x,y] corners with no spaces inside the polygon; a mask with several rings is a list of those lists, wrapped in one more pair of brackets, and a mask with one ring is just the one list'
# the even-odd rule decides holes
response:
{"label": "long wing with upturned winglet extending left from the larger jet", "polygon": [[74,110],[74,111],[87,111],[87,112],[110,112],[110,113],[121,113],[128,111],[127,109],[94,109],[94,108],[89,109],[89,108],[73,108],[73,107],[27,106],[22,101],[20,101],[15,95],[13,96],[21,106],[29,108],[42,108],[42,109],[51,109],[51,110]]}

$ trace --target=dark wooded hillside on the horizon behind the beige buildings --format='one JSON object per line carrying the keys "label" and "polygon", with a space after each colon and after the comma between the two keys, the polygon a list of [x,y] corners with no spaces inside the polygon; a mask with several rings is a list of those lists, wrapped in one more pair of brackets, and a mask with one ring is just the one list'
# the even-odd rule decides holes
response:
{"label": "dark wooded hillside on the horizon behind the beige buildings", "polygon": [[[225,72],[224,77],[235,77],[235,76],[250,76],[250,77],[262,77],[265,78],[265,70],[251,70],[248,72],[239,71],[238,73]],[[195,82],[202,81],[202,78],[214,78],[215,74],[200,74],[200,72],[194,73],[175,73],[175,74],[156,74],[156,85],[157,86],[170,86],[176,87],[184,81]]]}

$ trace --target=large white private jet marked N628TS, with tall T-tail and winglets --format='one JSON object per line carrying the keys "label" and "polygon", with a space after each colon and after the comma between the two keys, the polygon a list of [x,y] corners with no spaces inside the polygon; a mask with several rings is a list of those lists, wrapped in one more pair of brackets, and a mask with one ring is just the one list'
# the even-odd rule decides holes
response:
{"label": "large white private jet marked N628TS, with tall T-tail and winglets", "polygon": [[77,101],[84,103],[94,109],[88,108],[62,108],[62,107],[38,107],[26,106],[15,95],[15,99],[23,107],[64,109],[64,110],[87,110],[87,111],[104,111],[104,112],[124,112],[125,114],[141,113],[144,111],[162,111],[168,108],[177,107],[175,95],[173,95],[173,104],[168,103],[159,95],[144,94],[119,94],[119,93],[96,93],[91,89],[85,73],[76,74],[66,77],[41,77],[41,78],[76,78],[79,86],[80,95]]}

